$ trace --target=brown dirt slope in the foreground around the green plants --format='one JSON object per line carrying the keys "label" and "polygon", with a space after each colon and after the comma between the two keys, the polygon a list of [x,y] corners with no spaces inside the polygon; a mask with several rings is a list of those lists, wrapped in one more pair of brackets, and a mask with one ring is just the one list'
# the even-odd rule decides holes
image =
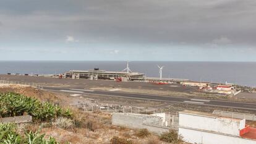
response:
{"label": "brown dirt slope in the foreground around the green plants", "polygon": [[[0,93],[15,92],[22,95],[38,98],[40,101],[50,101],[52,103],[59,103],[61,106],[69,106],[69,103],[76,103],[77,101],[83,101],[85,98],[73,97],[62,93],[51,93],[43,91],[38,88],[24,87],[23,85],[0,85]],[[142,104],[142,103],[140,103]],[[80,111],[77,108],[72,108],[74,119],[80,119],[80,121],[92,121],[93,130],[85,128],[69,128],[60,129],[49,124],[28,124],[30,130],[38,130],[41,126],[41,133],[46,133],[46,137],[54,137],[60,143],[109,143],[111,138],[117,136],[119,138],[126,138],[132,140],[133,143],[166,143],[161,142],[158,136],[150,134],[148,137],[140,138],[135,133],[137,130],[126,129],[124,127],[117,127],[111,125],[111,113],[108,112],[86,112]]]}

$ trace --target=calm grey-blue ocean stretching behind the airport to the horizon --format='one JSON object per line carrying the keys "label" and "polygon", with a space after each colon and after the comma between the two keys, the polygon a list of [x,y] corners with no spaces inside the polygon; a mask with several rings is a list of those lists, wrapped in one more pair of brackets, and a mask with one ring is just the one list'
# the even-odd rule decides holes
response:
{"label": "calm grey-blue ocean stretching behind the airport to the horizon", "polygon": [[[130,61],[132,72],[142,72],[147,77],[158,77],[164,66],[165,78],[188,78],[202,82],[236,83],[256,87],[256,62],[173,62]],[[68,70],[121,71],[126,61],[0,61],[0,74],[61,74]]]}

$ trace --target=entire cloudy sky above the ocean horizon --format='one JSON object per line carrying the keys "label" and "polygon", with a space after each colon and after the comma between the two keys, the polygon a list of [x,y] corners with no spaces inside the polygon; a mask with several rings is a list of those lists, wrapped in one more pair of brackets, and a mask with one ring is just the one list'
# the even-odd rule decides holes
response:
{"label": "entire cloudy sky above the ocean horizon", "polygon": [[255,0],[1,0],[0,60],[256,61]]}

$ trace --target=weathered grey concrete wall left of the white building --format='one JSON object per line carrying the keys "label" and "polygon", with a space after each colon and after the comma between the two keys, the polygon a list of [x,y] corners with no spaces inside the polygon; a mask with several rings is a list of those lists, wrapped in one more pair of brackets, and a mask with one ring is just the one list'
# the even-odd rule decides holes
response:
{"label": "weathered grey concrete wall left of the white building", "polygon": [[160,119],[161,117],[147,114],[113,113],[112,124],[130,129],[148,129],[148,131],[160,135],[163,132],[168,132],[170,129],[170,127],[157,124]]}

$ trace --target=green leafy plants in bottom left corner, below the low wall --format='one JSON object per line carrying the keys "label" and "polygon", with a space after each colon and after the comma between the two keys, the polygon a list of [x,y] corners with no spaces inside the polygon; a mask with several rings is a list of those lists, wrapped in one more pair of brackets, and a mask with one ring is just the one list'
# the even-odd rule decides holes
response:
{"label": "green leafy plants in bottom left corner, below the low wall", "polygon": [[45,134],[40,134],[38,131],[25,132],[22,136],[15,128],[14,124],[0,124],[0,144],[58,144],[52,137],[46,140]]}

